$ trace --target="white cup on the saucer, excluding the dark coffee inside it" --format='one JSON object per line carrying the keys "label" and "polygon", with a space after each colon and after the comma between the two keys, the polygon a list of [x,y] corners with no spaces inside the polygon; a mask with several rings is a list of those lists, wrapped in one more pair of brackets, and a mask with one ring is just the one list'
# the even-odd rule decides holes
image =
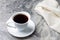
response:
{"label": "white cup on the saucer, excluding the dark coffee inside it", "polygon": [[[17,21],[14,20],[15,19],[14,17],[16,17],[17,15],[21,15],[21,14],[25,15],[28,18],[28,20],[26,22],[24,22],[24,23],[18,23]],[[30,20],[30,14],[28,12],[17,12],[11,18],[12,18],[12,21],[13,21],[13,23],[15,25],[15,28],[17,28],[19,30],[24,30],[28,26],[28,23],[29,23],[29,20]],[[11,26],[11,27],[13,27],[13,26]]]}

